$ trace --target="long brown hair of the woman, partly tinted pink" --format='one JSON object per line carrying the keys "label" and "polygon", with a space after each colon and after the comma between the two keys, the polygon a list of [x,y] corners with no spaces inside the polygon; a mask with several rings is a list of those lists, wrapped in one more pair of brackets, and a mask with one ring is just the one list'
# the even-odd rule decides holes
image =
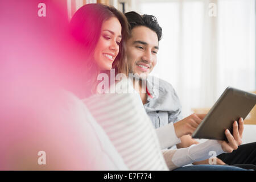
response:
{"label": "long brown hair of the woman, partly tinted pink", "polygon": [[[90,3],[82,6],[71,19],[71,33],[83,47],[85,52],[85,71],[90,73],[87,85],[92,86],[93,92],[96,90],[97,75],[99,73],[96,61],[93,58],[94,49],[101,34],[101,26],[106,20],[116,17],[122,26],[122,40],[119,46],[119,53],[115,58],[112,68],[115,74],[128,74],[128,64],[126,60],[126,40],[129,37],[129,23],[125,15],[114,7]],[[109,71],[105,71],[109,73]]]}

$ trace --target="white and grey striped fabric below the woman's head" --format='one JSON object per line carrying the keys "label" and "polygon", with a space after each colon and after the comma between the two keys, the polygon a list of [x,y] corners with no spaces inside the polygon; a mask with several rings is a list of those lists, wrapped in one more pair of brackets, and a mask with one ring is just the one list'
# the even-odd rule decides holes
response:
{"label": "white and grey striped fabric below the woman's head", "polygon": [[84,102],[130,170],[168,170],[138,93],[99,94]]}

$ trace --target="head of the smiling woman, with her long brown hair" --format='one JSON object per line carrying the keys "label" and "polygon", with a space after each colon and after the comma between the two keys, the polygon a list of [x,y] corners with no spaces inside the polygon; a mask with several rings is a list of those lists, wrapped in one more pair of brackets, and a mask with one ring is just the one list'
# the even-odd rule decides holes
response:
{"label": "head of the smiling woman, with her long brown hair", "polygon": [[125,42],[129,26],[120,11],[94,3],[82,6],[71,19],[71,32],[85,54],[82,69],[86,88],[81,97],[96,93],[98,73],[115,68],[115,73],[127,75]]}

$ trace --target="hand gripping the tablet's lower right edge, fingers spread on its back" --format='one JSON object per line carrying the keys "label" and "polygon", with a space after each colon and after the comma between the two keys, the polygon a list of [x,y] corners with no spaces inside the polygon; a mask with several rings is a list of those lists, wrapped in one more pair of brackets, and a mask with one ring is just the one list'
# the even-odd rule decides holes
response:
{"label": "hand gripping the tablet's lower right edge, fingers spread on its back", "polygon": [[233,135],[230,133],[228,129],[225,130],[226,138],[228,142],[219,140],[218,142],[221,144],[222,150],[228,153],[233,152],[233,150],[237,150],[238,146],[242,144],[242,135],[243,135],[243,119],[239,119],[239,126],[237,121],[233,123]]}

